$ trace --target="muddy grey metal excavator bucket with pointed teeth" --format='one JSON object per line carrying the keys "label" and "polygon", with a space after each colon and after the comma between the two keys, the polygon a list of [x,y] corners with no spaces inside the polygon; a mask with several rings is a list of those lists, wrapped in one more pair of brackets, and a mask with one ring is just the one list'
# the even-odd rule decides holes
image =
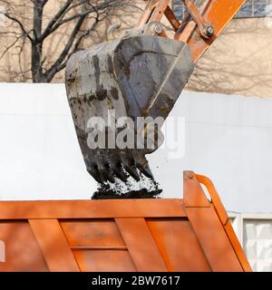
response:
{"label": "muddy grey metal excavator bucket with pointed teeth", "polygon": [[[139,180],[140,172],[151,178],[145,155],[160,146],[161,120],[192,71],[187,43],[152,35],[116,39],[71,56],[66,91],[86,168],[94,179],[125,181],[131,175]],[[139,126],[139,119],[150,122],[158,117],[154,146],[144,141],[139,148],[135,140],[148,138],[147,126]]]}

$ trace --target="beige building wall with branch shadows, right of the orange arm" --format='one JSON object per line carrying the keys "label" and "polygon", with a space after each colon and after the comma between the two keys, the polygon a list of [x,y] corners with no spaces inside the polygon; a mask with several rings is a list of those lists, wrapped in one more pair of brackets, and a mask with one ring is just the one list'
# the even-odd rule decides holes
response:
{"label": "beige building wall with branch shadows, right of the orange arm", "polygon": [[187,89],[271,98],[272,44],[268,21],[234,19],[199,59]]}

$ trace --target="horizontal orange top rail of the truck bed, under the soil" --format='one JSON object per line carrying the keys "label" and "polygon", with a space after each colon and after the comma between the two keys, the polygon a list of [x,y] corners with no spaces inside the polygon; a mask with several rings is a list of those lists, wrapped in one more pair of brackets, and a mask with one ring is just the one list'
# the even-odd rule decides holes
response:
{"label": "horizontal orange top rail of the truck bed, under the soil", "polygon": [[[1,201],[0,220],[24,218],[185,217],[180,199]],[[34,206],[35,205],[35,206]]]}

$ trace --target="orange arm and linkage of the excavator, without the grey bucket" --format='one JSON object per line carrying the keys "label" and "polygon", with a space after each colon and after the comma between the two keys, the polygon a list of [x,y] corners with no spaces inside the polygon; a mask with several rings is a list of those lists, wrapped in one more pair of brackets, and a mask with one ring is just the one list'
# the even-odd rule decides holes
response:
{"label": "orange arm and linkage of the excavator, without the grey bucket", "polygon": [[[188,6],[193,18],[185,24],[180,23],[174,16],[170,9],[170,0],[150,0],[137,27],[153,21],[160,22],[162,16],[165,15],[176,31],[174,39],[189,44],[193,60],[196,63],[245,2],[246,0],[204,0],[200,2],[202,5],[197,7],[191,0],[184,0],[184,4]],[[211,24],[213,27],[214,34],[211,37],[206,37],[203,32],[205,24]],[[182,26],[181,31],[179,31],[180,26]],[[160,36],[166,37],[165,31]]]}

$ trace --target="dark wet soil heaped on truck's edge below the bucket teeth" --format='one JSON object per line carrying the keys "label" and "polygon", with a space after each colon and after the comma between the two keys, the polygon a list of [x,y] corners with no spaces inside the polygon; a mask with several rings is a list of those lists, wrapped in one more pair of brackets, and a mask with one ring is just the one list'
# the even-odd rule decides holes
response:
{"label": "dark wet soil heaped on truck's edge below the bucket teeth", "polygon": [[132,190],[126,193],[117,193],[113,190],[96,191],[92,199],[129,199],[129,198],[160,198],[161,189],[148,191],[147,189]]}

